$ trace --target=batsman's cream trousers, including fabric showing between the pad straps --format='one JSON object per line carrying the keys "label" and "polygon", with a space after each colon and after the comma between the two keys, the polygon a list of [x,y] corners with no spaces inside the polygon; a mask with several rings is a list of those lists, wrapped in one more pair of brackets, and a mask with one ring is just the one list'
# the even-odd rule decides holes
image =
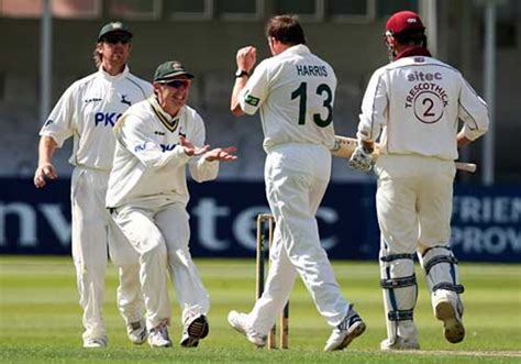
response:
{"label": "batsman's cream trousers, including fabric showing between the pad straps", "polygon": [[[433,246],[447,246],[451,238],[452,196],[455,166],[420,155],[381,155],[375,166],[378,176],[376,210],[380,228],[380,274],[383,279],[414,275],[413,261],[381,261],[386,256],[422,254]],[[452,282],[450,266],[431,269],[429,282]],[[457,283],[457,282],[455,282]],[[417,286],[384,289],[386,313],[413,310]],[[386,315],[387,317],[387,315]],[[387,338],[415,341],[418,330],[412,319],[386,319]]]}

